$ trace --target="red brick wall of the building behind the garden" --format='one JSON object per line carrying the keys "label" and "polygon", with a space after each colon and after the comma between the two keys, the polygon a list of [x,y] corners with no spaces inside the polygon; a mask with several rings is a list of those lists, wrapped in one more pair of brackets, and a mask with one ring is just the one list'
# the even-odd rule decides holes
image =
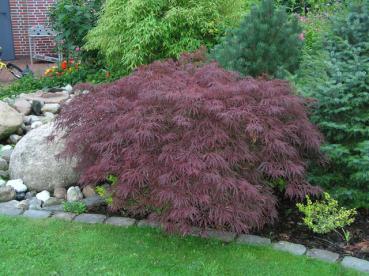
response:
{"label": "red brick wall of the building behind the garden", "polygon": [[[9,0],[14,51],[17,57],[29,56],[28,29],[38,24],[48,25],[49,7],[55,1]],[[52,39],[35,38],[34,41],[37,53],[52,54],[54,52],[55,43]]]}

